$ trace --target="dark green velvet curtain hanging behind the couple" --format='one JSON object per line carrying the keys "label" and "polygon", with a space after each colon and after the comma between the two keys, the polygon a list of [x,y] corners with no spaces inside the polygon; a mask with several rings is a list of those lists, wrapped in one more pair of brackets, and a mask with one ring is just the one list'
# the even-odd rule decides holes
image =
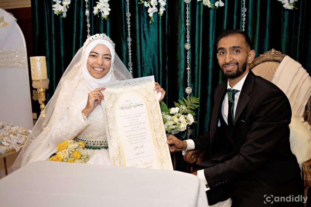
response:
{"label": "dark green velvet curtain hanging behind the couple", "polygon": [[[211,0],[215,3],[216,0]],[[111,0],[108,20],[94,16],[96,0],[89,0],[91,35],[106,33],[116,44],[116,52],[128,66],[127,5],[125,0]],[[132,62],[134,78],[154,75],[166,90],[168,107],[186,96],[186,4],[167,0],[166,11],[154,23],[147,8],[130,0]],[[191,95],[200,97],[198,123],[193,135],[209,129],[213,94],[223,80],[216,58],[215,38],[223,29],[241,29],[243,0],[223,0],[224,7],[211,10],[201,2],[190,2],[190,85]],[[34,55],[46,56],[53,95],[60,77],[86,39],[85,0],[72,0],[66,18],[53,14],[52,0],[32,0]],[[311,1],[299,0],[297,9],[287,10],[277,0],[246,1],[246,27],[256,56],[274,48],[299,61],[311,72]],[[38,107],[39,108],[39,107]]]}

